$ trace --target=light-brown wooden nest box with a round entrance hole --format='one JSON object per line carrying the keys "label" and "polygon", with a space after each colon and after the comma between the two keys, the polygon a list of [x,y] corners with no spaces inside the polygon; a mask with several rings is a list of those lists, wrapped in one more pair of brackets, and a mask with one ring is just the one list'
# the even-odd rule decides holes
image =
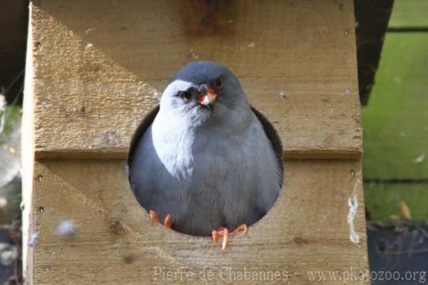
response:
{"label": "light-brown wooden nest box with a round entrance hole", "polygon": [[[284,272],[290,284],[307,284],[307,271],[364,282],[356,279],[368,262],[352,1],[34,0],[28,51],[28,284],[187,284],[191,274],[275,284]],[[151,222],[126,174],[138,124],[168,79],[200,60],[237,74],[284,148],[275,206],[224,254],[208,237]],[[58,233],[64,221],[73,224],[68,237]],[[257,279],[241,281],[248,271]]]}

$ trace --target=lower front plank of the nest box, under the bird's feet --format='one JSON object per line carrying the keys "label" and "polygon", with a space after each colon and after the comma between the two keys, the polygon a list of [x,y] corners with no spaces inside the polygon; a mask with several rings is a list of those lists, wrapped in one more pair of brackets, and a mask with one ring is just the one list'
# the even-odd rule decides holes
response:
{"label": "lower front plank of the nest box, under the bird's feet", "polygon": [[[248,284],[229,279],[228,268],[258,271],[257,284],[285,282],[283,276],[262,279],[260,272],[267,271],[287,271],[287,284],[307,284],[307,271],[337,271],[343,277],[368,270],[362,177],[355,160],[285,162],[285,185],[275,206],[248,234],[232,237],[225,254],[209,237],[190,237],[151,222],[133,197],[125,165],[124,160],[36,162],[35,284],[164,284],[157,270],[198,274],[204,268],[213,271],[213,280],[205,281],[210,284]],[[357,206],[355,216],[350,199]],[[69,239],[57,234],[64,219],[76,226]],[[357,243],[350,240],[349,221]],[[180,278],[171,282],[188,284]]]}

